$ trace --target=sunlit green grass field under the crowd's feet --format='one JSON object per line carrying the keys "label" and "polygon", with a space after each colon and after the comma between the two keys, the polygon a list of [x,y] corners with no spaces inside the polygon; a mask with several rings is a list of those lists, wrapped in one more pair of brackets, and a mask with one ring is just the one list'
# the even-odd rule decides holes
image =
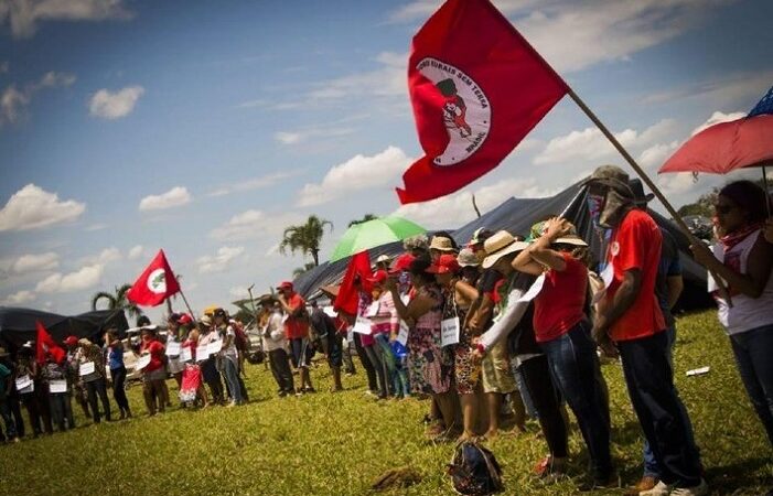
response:
{"label": "sunlit green grass field under the crowd's feet", "polygon": [[[773,487],[771,448],[715,312],[679,319],[675,365],[713,494],[764,494]],[[706,365],[709,374],[685,376]],[[603,373],[611,395],[612,452],[629,484],[641,475],[638,425],[620,366],[605,365]],[[453,446],[425,441],[426,401],[374,401],[363,395],[362,373],[345,378],[346,391],[322,392],[330,386],[323,364],[312,371],[321,392],[301,398],[277,398],[262,365],[248,366],[247,375],[251,402],[245,407],[192,411],[175,406],[147,418],[135,385],[129,389],[135,419],[92,425],[80,417],[72,432],[0,446],[0,490],[15,496],[361,495],[385,471],[407,465],[421,482],[386,494],[452,494],[444,465]],[[530,478],[546,453],[537,430],[530,422],[528,433],[489,444],[503,465],[505,494],[575,494],[571,482],[544,487]],[[576,428],[570,449],[571,472],[579,476],[587,459]]]}

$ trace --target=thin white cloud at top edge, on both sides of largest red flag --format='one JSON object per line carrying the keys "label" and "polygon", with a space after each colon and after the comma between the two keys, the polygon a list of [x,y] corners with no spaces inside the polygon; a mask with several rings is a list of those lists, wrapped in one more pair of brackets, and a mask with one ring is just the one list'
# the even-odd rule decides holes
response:
{"label": "thin white cloud at top edge, on both sides of largest red flag", "polygon": [[[700,25],[712,7],[733,1],[498,0],[494,4],[556,69],[573,72],[626,61]],[[391,12],[389,21],[425,20],[438,3],[410,2]]]}

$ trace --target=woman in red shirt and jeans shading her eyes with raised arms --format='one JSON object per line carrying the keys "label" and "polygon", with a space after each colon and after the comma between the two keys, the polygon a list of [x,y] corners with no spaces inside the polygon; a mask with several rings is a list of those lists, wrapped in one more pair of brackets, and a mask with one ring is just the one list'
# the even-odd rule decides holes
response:
{"label": "woman in red shirt and jeans shading her eyes with raised arms", "polygon": [[554,217],[536,230],[541,236],[513,260],[515,270],[543,278],[541,290],[534,299],[535,338],[588,445],[593,465],[589,488],[616,487],[609,408],[586,314],[588,268],[583,259],[588,244],[563,218]]}

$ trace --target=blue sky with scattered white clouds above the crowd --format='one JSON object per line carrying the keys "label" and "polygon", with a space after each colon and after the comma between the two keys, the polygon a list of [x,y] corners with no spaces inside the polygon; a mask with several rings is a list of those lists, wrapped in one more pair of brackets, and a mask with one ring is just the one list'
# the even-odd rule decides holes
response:
{"label": "blue sky with scattered white clouds above the crowd", "polygon": [[[494,3],[653,173],[773,84],[770,1]],[[563,100],[494,172],[400,208],[408,50],[438,6],[0,2],[0,303],[86,311],[164,248],[194,309],[227,304],[304,262],[276,246],[309,214],[335,226],[324,259],[365,213],[453,228],[472,193],[487,209],[622,164]],[[724,181],[658,179],[677,207]]]}

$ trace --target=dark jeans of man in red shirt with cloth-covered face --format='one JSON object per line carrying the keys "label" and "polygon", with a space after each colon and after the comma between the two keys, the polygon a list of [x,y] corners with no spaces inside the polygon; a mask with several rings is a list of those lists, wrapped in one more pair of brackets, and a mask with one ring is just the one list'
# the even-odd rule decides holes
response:
{"label": "dark jeans of man in red shirt with cloth-covered face", "polygon": [[674,387],[666,332],[618,342],[629,396],[655,455],[661,481],[676,487],[700,484],[700,460],[693,448],[689,418]]}

